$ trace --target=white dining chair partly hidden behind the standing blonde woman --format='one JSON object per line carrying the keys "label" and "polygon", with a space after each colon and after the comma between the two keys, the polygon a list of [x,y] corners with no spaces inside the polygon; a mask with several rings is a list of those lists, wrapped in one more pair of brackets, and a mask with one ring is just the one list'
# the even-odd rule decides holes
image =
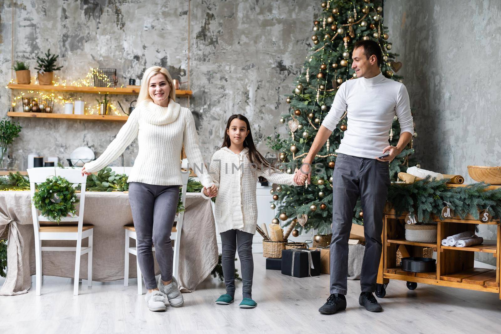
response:
{"label": "white dining chair partly hidden behind the standing blonde woman", "polygon": [[[186,186],[188,184],[189,172],[181,172],[182,179],[182,189],[181,189],[181,201],[183,206],[186,203]],[[181,242],[181,230],[183,226],[184,211],[179,213],[174,218],[175,225],[172,227],[172,232],[170,234],[170,239],[174,241],[174,259],[172,261],[172,275],[178,278],[179,273],[179,247]],[[129,254],[136,255],[136,267],[137,267],[137,294],[143,294],[143,279],[141,274],[141,269],[139,268],[139,262],[137,261],[137,248],[130,247],[130,238],[136,240],[136,229],[134,225],[125,225],[125,268],[124,268],[124,286],[129,286]],[[155,247],[152,248],[155,251]]]}

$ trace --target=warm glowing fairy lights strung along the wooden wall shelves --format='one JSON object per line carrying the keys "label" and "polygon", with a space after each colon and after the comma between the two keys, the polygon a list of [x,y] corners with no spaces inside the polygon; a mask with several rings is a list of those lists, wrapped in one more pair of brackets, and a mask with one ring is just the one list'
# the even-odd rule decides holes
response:
{"label": "warm glowing fairy lights strung along the wooden wall shelves", "polygon": [[[104,87],[106,87],[106,88],[113,87],[113,78],[110,78],[109,76],[104,74],[103,71],[100,71],[97,68],[90,68],[89,72],[87,73],[87,75],[84,78],[71,81],[70,83],[68,83],[67,80],[62,79],[61,77],[54,75],[54,80],[52,81],[51,85],[54,87],[63,87],[63,88],[66,88],[66,87],[94,87],[93,86],[94,80],[99,80],[99,81],[103,82],[105,85]],[[37,77],[32,77],[31,82],[35,83],[35,85],[39,84]],[[15,80],[11,79],[11,81],[9,82],[9,85],[15,84],[15,83],[16,83]],[[120,88],[123,88],[123,87],[124,87],[123,85],[120,86]],[[6,86],[6,88],[9,88],[9,87]],[[97,92],[97,94],[109,95],[109,93],[101,93],[101,92]],[[81,100],[81,98],[78,98],[77,100],[75,100],[71,97],[66,99],[62,95],[55,94],[55,93],[48,93],[48,92],[44,92],[42,90],[40,90],[40,91],[39,90],[26,90],[26,91],[20,90],[17,95],[12,97],[11,105],[12,105],[13,109],[18,104],[22,103],[23,99],[26,99],[26,98],[32,98],[33,100],[36,100],[36,101],[37,100],[50,100],[50,101],[53,101],[54,103],[60,104],[62,106],[64,106],[66,103],[74,103],[77,100]],[[99,110],[100,110],[99,103],[92,104],[92,103],[87,103],[84,101],[84,104],[85,104],[84,114],[96,115],[99,113]],[[21,104],[21,105],[23,106],[23,104]],[[108,108],[109,108],[109,110],[111,110],[111,112],[114,115],[122,116],[121,113],[118,111],[117,107],[113,103],[108,103]],[[48,111],[48,112],[52,112],[52,111],[53,111],[53,109],[51,111]]]}

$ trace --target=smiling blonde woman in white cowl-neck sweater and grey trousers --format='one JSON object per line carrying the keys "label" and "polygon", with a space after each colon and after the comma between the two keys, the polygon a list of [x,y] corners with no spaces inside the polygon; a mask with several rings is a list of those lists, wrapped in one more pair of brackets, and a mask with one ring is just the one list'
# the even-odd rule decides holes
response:
{"label": "smiling blonde woman in white cowl-neck sweater and grey trousers", "polygon": [[[101,156],[82,168],[82,175],[97,172],[117,159],[136,138],[139,152],[130,172],[129,201],[137,234],[137,260],[144,284],[145,299],[152,311],[183,305],[175,277],[172,276],[173,250],[170,241],[172,225],[179,200],[181,181],[181,148],[201,184],[215,196],[214,186],[198,147],[195,123],[191,112],[181,107],[169,72],[158,66],[146,70],[139,91],[137,107],[117,137]],[[160,267],[158,284],[155,280],[153,253]]]}

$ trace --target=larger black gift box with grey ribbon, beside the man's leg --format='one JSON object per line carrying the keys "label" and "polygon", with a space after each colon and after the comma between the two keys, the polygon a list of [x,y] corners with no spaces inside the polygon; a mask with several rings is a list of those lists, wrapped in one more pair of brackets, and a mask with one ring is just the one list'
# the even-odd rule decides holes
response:
{"label": "larger black gift box with grey ribbon, beside the man's leg", "polygon": [[294,277],[320,275],[320,251],[310,249],[282,250],[282,273]]}

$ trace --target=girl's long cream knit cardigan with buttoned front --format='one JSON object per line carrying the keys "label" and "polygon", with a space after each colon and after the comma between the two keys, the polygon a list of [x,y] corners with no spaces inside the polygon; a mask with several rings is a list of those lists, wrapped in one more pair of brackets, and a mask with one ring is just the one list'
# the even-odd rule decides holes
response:
{"label": "girl's long cream knit cardigan with buttoned front", "polygon": [[[286,174],[268,167],[256,168],[251,165],[247,148],[239,154],[233,153],[227,147],[219,149],[212,155],[209,174],[219,188],[214,210],[219,232],[238,229],[252,234],[256,233],[258,220],[256,187],[259,176],[276,184],[298,185],[294,182],[294,174]],[[209,198],[205,195],[203,197]]]}

